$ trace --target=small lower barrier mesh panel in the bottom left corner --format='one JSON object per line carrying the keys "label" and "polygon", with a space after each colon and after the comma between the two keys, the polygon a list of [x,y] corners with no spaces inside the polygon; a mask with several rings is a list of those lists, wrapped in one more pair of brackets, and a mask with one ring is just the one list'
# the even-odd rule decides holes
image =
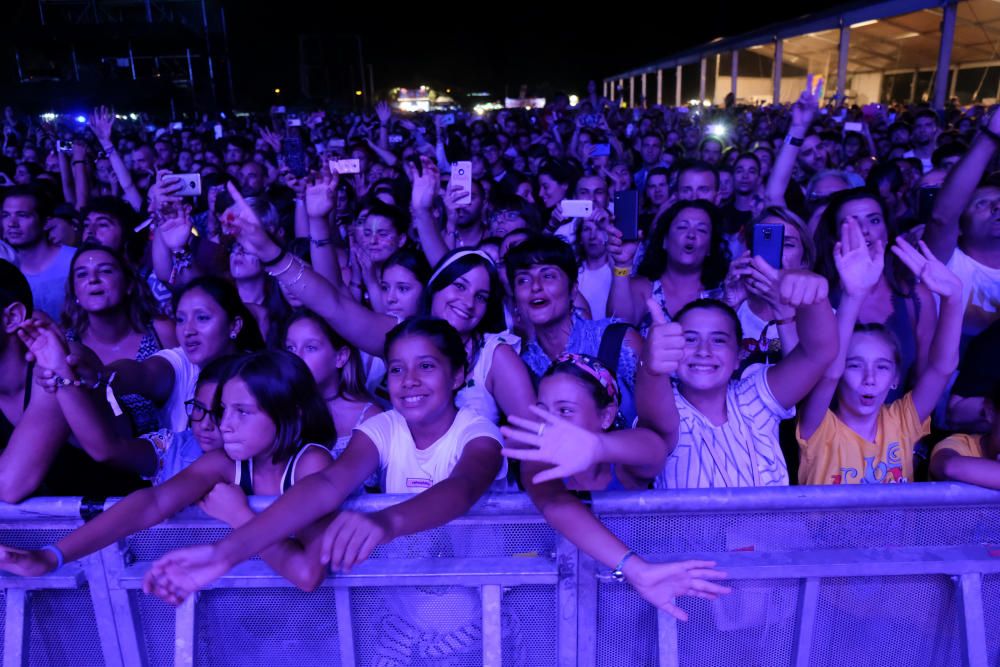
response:
{"label": "small lower barrier mesh panel in the bottom left corner", "polygon": [[27,600],[27,663],[31,667],[104,664],[94,607],[86,588],[32,591]]}

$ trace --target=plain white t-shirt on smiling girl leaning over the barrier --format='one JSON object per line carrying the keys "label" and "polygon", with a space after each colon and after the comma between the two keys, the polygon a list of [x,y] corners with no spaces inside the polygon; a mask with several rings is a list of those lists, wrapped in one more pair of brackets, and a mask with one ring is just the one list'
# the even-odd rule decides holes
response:
{"label": "plain white t-shirt on smiling girl leaning over the barrier", "polygon": [[[395,410],[375,415],[355,429],[375,443],[386,493],[420,493],[447,479],[462,456],[465,445],[475,438],[491,438],[500,447],[500,430],[472,410],[455,415],[451,428],[426,449],[417,449],[406,419]],[[496,479],[507,476],[504,459]]]}

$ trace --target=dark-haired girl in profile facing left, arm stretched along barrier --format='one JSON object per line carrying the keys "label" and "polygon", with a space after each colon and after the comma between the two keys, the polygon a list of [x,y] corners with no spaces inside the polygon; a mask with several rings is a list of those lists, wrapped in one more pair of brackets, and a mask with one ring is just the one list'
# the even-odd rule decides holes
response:
{"label": "dark-haired girl in profile facing left, arm stretched along barrier", "polygon": [[[214,402],[222,448],[163,484],[126,496],[54,545],[2,549],[0,569],[25,576],[51,572],[203,499],[206,512],[242,525],[254,516],[247,495],[283,494],[330,464],[329,450],[316,443],[333,439],[333,423],[300,359],[257,352],[235,362],[230,373]],[[323,578],[315,555],[319,537],[317,527],[303,524],[296,538],[276,541],[261,557],[296,586],[312,590]]]}

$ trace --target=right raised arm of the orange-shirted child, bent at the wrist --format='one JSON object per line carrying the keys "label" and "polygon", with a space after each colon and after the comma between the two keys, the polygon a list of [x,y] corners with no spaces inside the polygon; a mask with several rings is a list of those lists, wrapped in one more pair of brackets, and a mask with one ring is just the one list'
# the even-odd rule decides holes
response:
{"label": "right raised arm of the orange-shirted child, bent at the wrist", "polygon": [[918,251],[900,236],[892,252],[931,292],[941,297],[941,315],[934,331],[927,366],[913,387],[913,407],[923,421],[934,412],[934,406],[958,368],[958,344],[965,313],[962,281],[935,257],[923,241],[920,241]]}

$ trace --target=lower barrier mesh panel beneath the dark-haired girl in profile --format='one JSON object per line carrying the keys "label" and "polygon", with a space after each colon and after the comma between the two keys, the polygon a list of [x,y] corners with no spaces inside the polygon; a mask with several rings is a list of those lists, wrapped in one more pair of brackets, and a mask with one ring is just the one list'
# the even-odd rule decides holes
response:
{"label": "lower barrier mesh panel beneath the dark-haired girl in profile", "polygon": [[340,665],[333,589],[204,591],[195,613],[195,664]]}

